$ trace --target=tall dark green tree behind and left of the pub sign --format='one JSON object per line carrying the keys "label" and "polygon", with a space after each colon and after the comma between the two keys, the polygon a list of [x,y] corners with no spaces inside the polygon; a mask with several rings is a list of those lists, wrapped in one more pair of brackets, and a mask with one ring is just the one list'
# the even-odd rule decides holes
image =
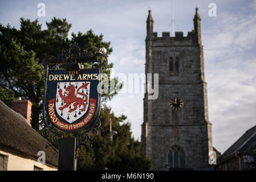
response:
{"label": "tall dark green tree behind and left of the pub sign", "polygon": [[[72,33],[72,39],[68,39],[71,24],[66,19],[52,18],[46,22],[47,29],[42,30],[38,20],[30,21],[21,18],[21,28],[11,28],[0,24],[0,86],[4,90],[10,90],[14,97],[22,97],[32,102],[31,126],[38,131],[40,113],[43,100],[43,68],[40,61],[48,55],[56,56],[67,49],[71,41],[79,43],[81,48],[87,48],[94,53],[97,48],[105,47],[108,56],[112,52],[110,42],[103,41],[103,35],[95,35],[92,30],[86,34]],[[86,65],[91,67],[91,65]],[[110,77],[112,63],[107,65],[104,73]],[[119,82],[116,79],[116,84]],[[1,100],[10,105],[13,97],[10,93],[1,91]],[[102,101],[110,100],[117,94],[104,93]]]}

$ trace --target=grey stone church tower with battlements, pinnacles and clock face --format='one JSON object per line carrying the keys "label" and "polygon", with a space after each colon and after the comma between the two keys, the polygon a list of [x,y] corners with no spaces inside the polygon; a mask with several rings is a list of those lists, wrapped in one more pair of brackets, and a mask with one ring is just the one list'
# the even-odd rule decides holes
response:
{"label": "grey stone church tower with battlements, pinnacles and clock face", "polygon": [[152,170],[206,168],[213,150],[198,9],[193,21],[188,36],[157,37],[149,10],[145,73],[159,73],[159,97],[145,93],[141,142]]}

